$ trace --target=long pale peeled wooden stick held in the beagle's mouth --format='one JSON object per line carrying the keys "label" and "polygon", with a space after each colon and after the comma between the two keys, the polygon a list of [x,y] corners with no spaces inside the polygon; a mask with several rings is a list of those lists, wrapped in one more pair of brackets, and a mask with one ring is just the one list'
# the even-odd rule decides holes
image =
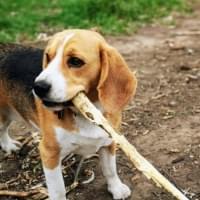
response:
{"label": "long pale peeled wooden stick held in the beagle's mouth", "polygon": [[108,121],[103,117],[101,112],[89,101],[84,93],[80,92],[72,99],[73,104],[79,111],[91,122],[103,128],[109,136],[111,136],[119,147],[131,160],[135,167],[141,171],[148,179],[152,179],[157,186],[164,187],[168,192],[174,195],[178,200],[189,200],[181,193],[172,183],[170,183],[156,168],[149,163],[136,148],[131,145],[123,135],[119,135],[109,125]]}

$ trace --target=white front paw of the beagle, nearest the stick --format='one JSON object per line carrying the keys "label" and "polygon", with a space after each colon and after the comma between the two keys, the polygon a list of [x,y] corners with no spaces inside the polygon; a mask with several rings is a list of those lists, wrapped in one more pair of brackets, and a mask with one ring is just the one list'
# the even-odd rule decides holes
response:
{"label": "white front paw of the beagle, nearest the stick", "polygon": [[113,199],[126,199],[131,195],[131,190],[121,181],[117,181],[118,183],[113,183],[108,186],[108,191],[112,193]]}

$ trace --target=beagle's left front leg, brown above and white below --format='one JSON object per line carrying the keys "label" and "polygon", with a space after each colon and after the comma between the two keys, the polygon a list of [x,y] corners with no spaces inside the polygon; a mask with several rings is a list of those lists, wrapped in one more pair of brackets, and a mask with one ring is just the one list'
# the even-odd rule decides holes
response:
{"label": "beagle's left front leg, brown above and white below", "polygon": [[66,200],[58,146],[40,143],[40,154],[50,200]]}

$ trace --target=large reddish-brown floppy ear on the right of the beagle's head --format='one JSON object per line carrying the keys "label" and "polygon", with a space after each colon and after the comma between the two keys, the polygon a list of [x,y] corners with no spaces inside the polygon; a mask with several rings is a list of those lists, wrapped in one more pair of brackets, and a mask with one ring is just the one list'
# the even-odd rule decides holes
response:
{"label": "large reddish-brown floppy ear on the right of the beagle's head", "polygon": [[100,47],[101,72],[98,83],[100,103],[107,113],[121,112],[135,94],[137,80],[126,62],[113,47]]}

